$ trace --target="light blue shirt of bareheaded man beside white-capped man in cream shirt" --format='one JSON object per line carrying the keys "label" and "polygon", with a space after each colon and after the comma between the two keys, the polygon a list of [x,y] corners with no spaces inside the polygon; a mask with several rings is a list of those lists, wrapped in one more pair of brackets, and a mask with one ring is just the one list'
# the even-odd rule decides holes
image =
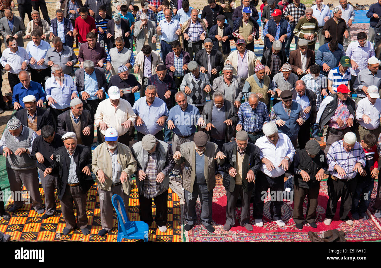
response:
{"label": "light blue shirt of bareheaded man beside white-capped man in cream shirt", "polygon": [[168,116],[168,108],[166,107],[165,102],[160,98],[155,98],[154,102],[149,106],[146,101],[146,97],[139,98],[132,107],[134,113],[141,117],[143,124],[135,128],[138,132],[147,135],[155,135],[159,131],[162,131],[163,126],[160,126],[156,121],[162,116]]}

